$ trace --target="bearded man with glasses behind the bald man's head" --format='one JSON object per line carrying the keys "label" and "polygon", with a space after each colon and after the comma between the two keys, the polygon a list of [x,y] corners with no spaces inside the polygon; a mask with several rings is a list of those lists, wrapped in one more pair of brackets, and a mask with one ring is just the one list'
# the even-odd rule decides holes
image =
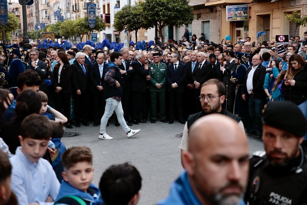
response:
{"label": "bearded man with glasses behind the bald man's head", "polygon": [[204,82],[204,84],[201,86],[199,100],[203,110],[188,117],[188,121],[185,123],[185,128],[183,129],[183,136],[179,146],[179,149],[181,149],[181,164],[184,168],[185,165],[183,164],[182,158],[183,155],[188,152],[188,131],[191,125],[197,119],[212,113],[220,113],[237,121],[239,123],[239,127],[244,131],[244,125],[241,121],[241,117],[235,116],[231,112],[228,112],[222,108],[222,104],[225,101],[225,92],[225,86],[217,79],[210,79]]}

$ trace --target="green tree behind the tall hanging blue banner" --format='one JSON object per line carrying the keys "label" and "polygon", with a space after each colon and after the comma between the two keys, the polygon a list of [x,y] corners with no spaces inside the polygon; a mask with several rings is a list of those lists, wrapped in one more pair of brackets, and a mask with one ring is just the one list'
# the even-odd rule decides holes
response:
{"label": "green tree behind the tall hanging blue banner", "polygon": [[78,18],[75,22],[75,27],[77,30],[77,34],[80,34],[81,39],[83,38],[84,34],[87,34],[87,37],[90,38],[90,34],[92,31],[102,31],[106,29],[106,23],[103,21],[103,18],[96,16],[96,23],[95,27],[91,28],[88,24],[87,16],[84,18]]}

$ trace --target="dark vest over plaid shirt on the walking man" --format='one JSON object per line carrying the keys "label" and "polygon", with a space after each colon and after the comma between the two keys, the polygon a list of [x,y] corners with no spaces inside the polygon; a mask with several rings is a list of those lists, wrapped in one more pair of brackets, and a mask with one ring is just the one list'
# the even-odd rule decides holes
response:
{"label": "dark vest over plaid shirt on the walking man", "polygon": [[[120,73],[119,68],[115,66],[110,66],[107,68],[106,73],[109,69],[114,69],[115,70],[115,75],[113,79],[119,82],[119,84],[122,84],[122,73]],[[116,88],[115,85],[111,86],[108,82],[105,82],[105,87],[103,90],[103,97],[104,99],[108,99],[109,97],[112,96],[122,96],[122,86]]]}

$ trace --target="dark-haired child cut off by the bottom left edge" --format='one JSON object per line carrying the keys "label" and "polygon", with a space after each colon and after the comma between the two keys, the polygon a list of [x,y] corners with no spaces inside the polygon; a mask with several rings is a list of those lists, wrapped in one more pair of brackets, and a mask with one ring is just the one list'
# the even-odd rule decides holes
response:
{"label": "dark-haired child cut off by the bottom left edge", "polygon": [[10,187],[12,166],[6,154],[0,150],[0,205],[6,204],[11,197]]}

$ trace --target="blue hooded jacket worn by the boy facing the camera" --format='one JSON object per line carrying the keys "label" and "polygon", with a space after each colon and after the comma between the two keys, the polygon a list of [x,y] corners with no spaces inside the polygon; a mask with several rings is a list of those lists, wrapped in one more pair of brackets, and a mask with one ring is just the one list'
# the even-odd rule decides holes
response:
{"label": "blue hooded jacket worn by the boy facing the camera", "polygon": [[103,200],[101,198],[99,188],[96,187],[93,183],[91,183],[89,188],[95,191],[95,194],[93,196],[89,193],[85,193],[84,191],[80,191],[75,187],[72,187],[68,182],[63,180],[61,183],[59,195],[56,197],[55,203],[65,196],[73,195],[80,197],[90,205],[102,205]]}

